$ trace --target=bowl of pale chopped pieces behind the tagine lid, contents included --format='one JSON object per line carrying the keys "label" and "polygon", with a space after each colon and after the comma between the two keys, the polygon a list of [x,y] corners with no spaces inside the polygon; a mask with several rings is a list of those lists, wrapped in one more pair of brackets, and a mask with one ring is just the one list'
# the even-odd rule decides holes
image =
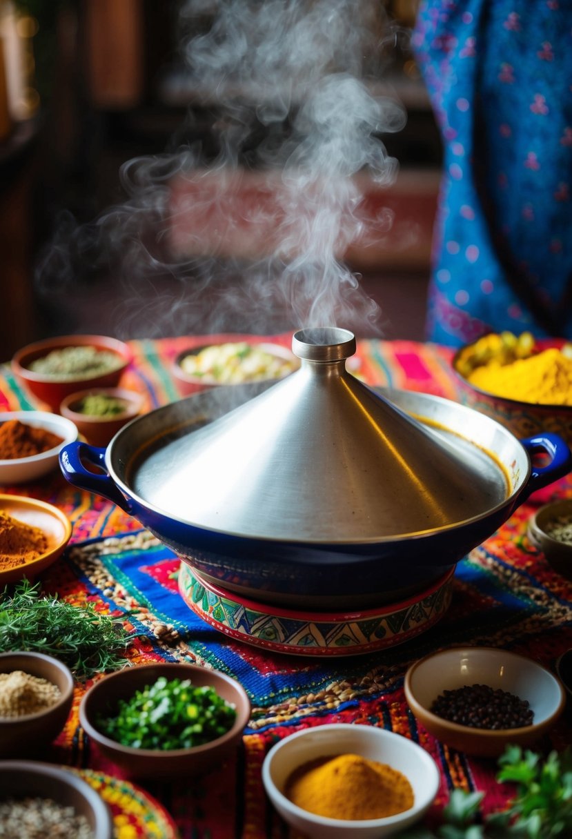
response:
{"label": "bowl of pale chopped pieces behind the tagine lid, contents included", "polygon": [[299,359],[288,347],[264,341],[226,341],[179,352],[173,375],[181,396],[217,385],[278,379],[294,373]]}

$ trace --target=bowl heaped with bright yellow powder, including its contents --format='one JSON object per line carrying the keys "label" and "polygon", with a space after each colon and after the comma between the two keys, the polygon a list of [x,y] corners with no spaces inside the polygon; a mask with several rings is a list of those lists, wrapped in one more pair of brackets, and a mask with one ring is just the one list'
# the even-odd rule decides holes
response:
{"label": "bowl heaped with bright yellow powder, including its contents", "polygon": [[572,444],[572,344],[530,332],[490,333],[455,352],[460,402],[518,439],[539,432]]}

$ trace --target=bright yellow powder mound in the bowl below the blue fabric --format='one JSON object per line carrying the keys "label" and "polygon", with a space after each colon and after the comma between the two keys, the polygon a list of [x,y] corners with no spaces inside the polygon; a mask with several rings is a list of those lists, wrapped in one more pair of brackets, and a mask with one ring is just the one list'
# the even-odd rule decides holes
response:
{"label": "bright yellow powder mound in the bowl below the blue fabric", "polygon": [[472,370],[467,379],[476,388],[505,399],[572,405],[572,358],[554,347],[509,364],[493,359]]}

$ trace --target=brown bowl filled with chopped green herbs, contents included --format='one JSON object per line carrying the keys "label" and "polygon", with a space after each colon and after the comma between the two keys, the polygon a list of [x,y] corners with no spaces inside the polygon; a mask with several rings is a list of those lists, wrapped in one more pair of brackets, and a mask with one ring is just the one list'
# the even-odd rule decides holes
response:
{"label": "brown bowl filled with chopped green herbs, contents included", "polygon": [[91,741],[134,778],[185,777],[220,765],[237,748],[249,717],[250,701],[237,680],[170,662],[104,676],[80,705]]}

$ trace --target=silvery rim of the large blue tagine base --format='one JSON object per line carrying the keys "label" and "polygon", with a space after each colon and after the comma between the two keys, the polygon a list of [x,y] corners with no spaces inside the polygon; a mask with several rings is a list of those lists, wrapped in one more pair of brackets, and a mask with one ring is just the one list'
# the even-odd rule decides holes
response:
{"label": "silvery rim of the large blue tagine base", "polygon": [[[230,386],[232,387],[232,386]],[[384,392],[386,391],[394,391],[398,392],[399,388],[377,388]],[[475,413],[474,409],[468,408],[466,405],[462,405],[457,402],[452,402],[450,399],[445,399],[445,397],[441,396],[434,396],[430,393],[413,393],[409,391],[399,391],[400,393],[412,393],[412,396],[417,398],[425,398],[429,399],[430,401],[437,401],[439,403],[451,403],[455,405],[455,409],[459,411],[471,411]],[[188,399],[195,399],[195,397],[190,396]],[[171,405],[163,405],[157,409],[156,411],[167,410],[171,407]],[[107,466],[107,471],[109,472],[110,476],[112,477],[113,481],[117,484],[122,492],[127,495],[127,498],[132,498],[137,504],[138,507],[143,508],[144,510],[148,511],[149,513],[153,513],[154,515],[160,517],[162,520],[168,520],[169,522],[179,524],[185,526],[187,528],[192,528],[195,531],[198,531],[202,534],[216,534],[225,537],[226,539],[235,539],[237,542],[242,542],[245,545],[304,545],[309,547],[315,547],[320,550],[333,550],[337,551],[341,546],[351,550],[355,548],[359,550],[361,547],[365,545],[390,545],[393,543],[401,543],[401,542],[409,542],[412,539],[419,539],[419,541],[423,539],[429,539],[434,537],[437,534],[449,534],[454,532],[457,529],[461,529],[463,527],[470,526],[471,524],[476,524],[477,522],[481,522],[484,519],[493,516],[495,513],[500,513],[503,508],[510,506],[513,503],[517,503],[517,499],[519,495],[524,491],[528,479],[532,472],[532,464],[530,461],[530,457],[528,456],[528,452],[523,447],[520,440],[517,440],[517,437],[512,434],[512,431],[508,430],[505,426],[501,425],[497,420],[492,420],[491,417],[482,417],[483,422],[492,423],[496,426],[497,430],[499,430],[503,435],[506,435],[515,446],[519,446],[519,448],[523,451],[523,455],[526,457],[528,463],[528,469],[526,471],[526,475],[523,475],[521,484],[517,489],[512,487],[512,491],[507,493],[507,498],[505,498],[501,503],[496,504],[494,507],[486,509],[483,513],[479,513],[476,516],[472,516],[471,519],[462,519],[461,521],[454,522],[452,524],[445,524],[443,527],[427,529],[427,530],[419,530],[419,531],[412,531],[405,534],[395,534],[391,536],[383,536],[383,537],[375,537],[372,536],[371,538],[367,539],[360,539],[356,541],[355,539],[335,539],[335,541],[325,540],[325,539],[283,539],[278,536],[257,536],[256,534],[242,534],[233,532],[228,529],[219,529],[219,528],[206,528],[204,525],[200,523],[195,523],[187,519],[180,519],[177,516],[174,516],[169,511],[164,510],[162,508],[157,507],[156,505],[148,502],[144,498],[141,498],[137,495],[137,493],[133,492],[133,487],[129,487],[127,482],[123,481],[121,477],[117,475],[112,463],[113,457],[113,449],[114,446],[117,445],[117,442],[121,440],[121,438],[129,433],[132,433],[133,427],[138,423],[145,421],[148,418],[149,414],[145,414],[143,416],[136,417],[134,420],[124,426],[117,432],[117,435],[112,439],[110,444],[107,446],[107,450],[105,453],[105,462]],[[470,441],[471,442],[471,441]]]}

